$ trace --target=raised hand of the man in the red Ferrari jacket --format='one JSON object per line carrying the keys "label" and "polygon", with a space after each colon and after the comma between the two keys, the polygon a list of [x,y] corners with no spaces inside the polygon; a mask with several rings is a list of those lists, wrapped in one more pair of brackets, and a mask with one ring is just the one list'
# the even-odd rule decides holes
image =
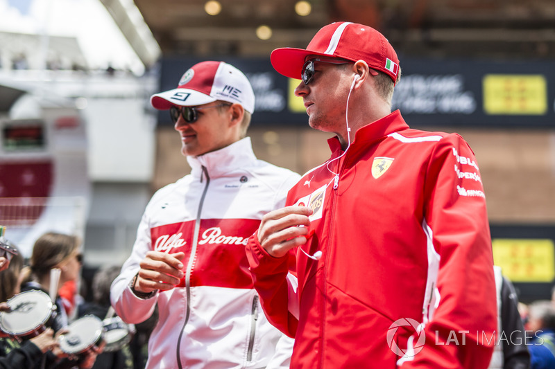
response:
{"label": "raised hand of the man in the red Ferrari jacket", "polygon": [[273,210],[262,217],[258,228],[258,241],[273,257],[281,258],[287,251],[307,242],[311,208],[287,206]]}

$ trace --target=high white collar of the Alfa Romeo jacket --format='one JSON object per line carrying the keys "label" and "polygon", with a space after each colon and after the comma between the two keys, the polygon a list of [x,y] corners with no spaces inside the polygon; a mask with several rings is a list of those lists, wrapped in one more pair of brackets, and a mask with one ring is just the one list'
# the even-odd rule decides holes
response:
{"label": "high white collar of the Alfa Romeo jacket", "polygon": [[202,175],[202,167],[207,168],[211,178],[215,178],[233,170],[245,168],[256,160],[250,137],[236,141],[220,150],[199,156],[187,156],[187,163],[191,166],[191,175],[195,178],[200,178]]}

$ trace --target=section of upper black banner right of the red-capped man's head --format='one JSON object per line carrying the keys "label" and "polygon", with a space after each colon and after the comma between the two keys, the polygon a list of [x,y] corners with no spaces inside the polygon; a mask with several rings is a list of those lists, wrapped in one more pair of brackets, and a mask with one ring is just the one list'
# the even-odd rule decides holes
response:
{"label": "section of upper black banner right of the red-capped man's head", "polygon": [[555,127],[555,61],[405,60],[393,96],[409,125]]}

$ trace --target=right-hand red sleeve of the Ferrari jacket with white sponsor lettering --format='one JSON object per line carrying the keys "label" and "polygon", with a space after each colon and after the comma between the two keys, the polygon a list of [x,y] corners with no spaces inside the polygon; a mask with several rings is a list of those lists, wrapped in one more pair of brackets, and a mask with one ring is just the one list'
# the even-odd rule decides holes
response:
{"label": "right-hand red sleeve of the Ferrari jacket with white sponsor lettering", "polygon": [[437,276],[425,297],[424,345],[400,359],[401,368],[486,369],[495,344],[497,299],[474,153],[461,136],[447,135],[432,150],[425,176],[422,226],[428,255],[437,262],[429,278]]}

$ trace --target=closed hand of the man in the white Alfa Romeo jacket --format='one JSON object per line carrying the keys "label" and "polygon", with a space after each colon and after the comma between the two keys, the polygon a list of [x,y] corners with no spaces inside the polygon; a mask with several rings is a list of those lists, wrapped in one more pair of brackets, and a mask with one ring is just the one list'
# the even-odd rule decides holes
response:
{"label": "closed hand of the man in the white Alfa Romeo jacket", "polygon": [[178,285],[185,273],[183,263],[185,253],[162,253],[148,251],[140,262],[141,269],[135,280],[135,291],[149,294],[156,289],[166,291]]}

